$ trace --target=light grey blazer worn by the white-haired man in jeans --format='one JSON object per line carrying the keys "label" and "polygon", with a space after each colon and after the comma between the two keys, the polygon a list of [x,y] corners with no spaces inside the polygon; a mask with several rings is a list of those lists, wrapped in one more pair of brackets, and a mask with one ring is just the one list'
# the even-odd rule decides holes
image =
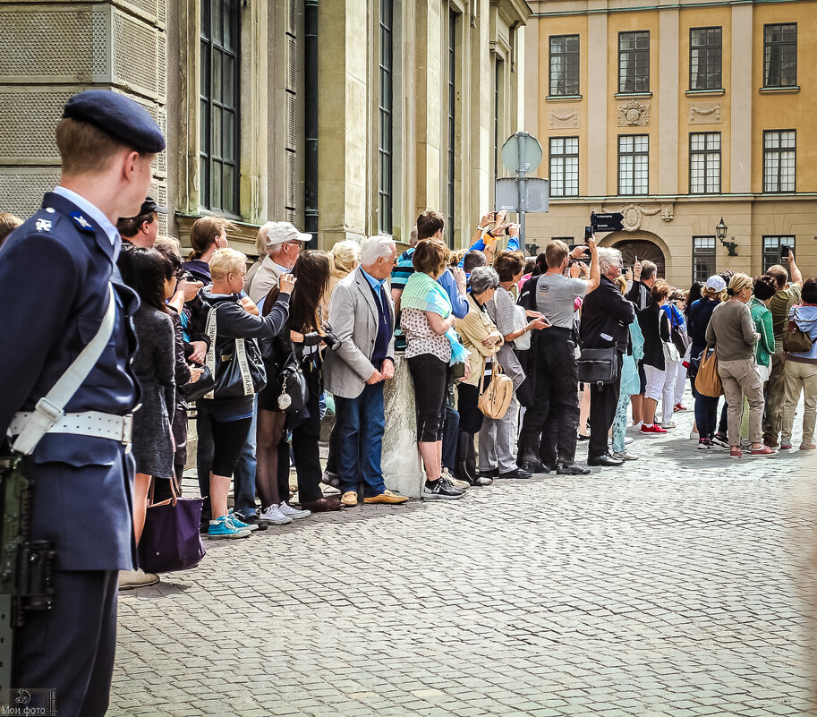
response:
{"label": "light grey blazer worn by the white-haired man in jeans", "polygon": [[[395,304],[389,291],[388,312],[395,325]],[[358,267],[340,280],[329,300],[332,330],[339,340],[336,351],[328,351],[323,366],[324,383],[328,391],[342,398],[357,398],[363,392],[366,380],[379,366],[370,359],[378,337],[378,307],[362,269]],[[389,338],[387,358],[394,360],[394,330]]]}

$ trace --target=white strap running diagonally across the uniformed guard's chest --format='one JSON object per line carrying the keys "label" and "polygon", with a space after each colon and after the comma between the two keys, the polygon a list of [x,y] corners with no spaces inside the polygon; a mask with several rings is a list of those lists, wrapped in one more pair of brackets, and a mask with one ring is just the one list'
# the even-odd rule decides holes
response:
{"label": "white strap running diagonally across the uniformed guard's chest", "polygon": [[50,431],[65,415],[65,405],[88,378],[91,369],[97,364],[99,357],[107,346],[114,333],[116,318],[116,299],[114,287],[108,284],[108,304],[97,335],[73,360],[68,369],[54,384],[47,395],[40,398],[34,411],[30,414],[25,425],[21,428],[17,438],[12,443],[12,449],[23,456],[30,456],[37,448],[39,440]]}

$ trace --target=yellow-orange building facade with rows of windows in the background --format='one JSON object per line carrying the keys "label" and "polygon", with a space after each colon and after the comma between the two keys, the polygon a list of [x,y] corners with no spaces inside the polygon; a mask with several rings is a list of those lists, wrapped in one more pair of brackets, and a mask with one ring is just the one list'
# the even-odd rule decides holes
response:
{"label": "yellow-orange building facade with rows of windows in the background", "polygon": [[760,274],[781,246],[817,274],[817,2],[530,5],[525,128],[550,209],[526,243],[581,243],[591,212],[621,212],[601,245],[674,286]]}

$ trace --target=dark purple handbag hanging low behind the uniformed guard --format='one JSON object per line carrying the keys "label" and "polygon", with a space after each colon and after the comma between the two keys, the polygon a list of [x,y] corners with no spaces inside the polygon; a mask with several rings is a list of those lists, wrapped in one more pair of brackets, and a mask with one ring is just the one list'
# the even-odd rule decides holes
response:
{"label": "dark purple handbag hanging low behind the uniformed guard", "polygon": [[199,524],[203,499],[182,498],[170,479],[173,498],[148,506],[137,546],[139,567],[146,573],[172,573],[194,568],[206,551]]}

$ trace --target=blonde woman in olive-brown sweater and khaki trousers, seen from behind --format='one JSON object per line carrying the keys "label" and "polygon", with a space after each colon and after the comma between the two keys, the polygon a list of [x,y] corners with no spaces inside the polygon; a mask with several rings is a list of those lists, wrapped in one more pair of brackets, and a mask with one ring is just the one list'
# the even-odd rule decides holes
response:
{"label": "blonde woman in olive-brown sweater and khaki trousers, seen from behind", "polygon": [[763,386],[754,360],[754,346],[760,334],[754,330],[752,312],[746,303],[752,298],[752,277],[735,274],[729,280],[727,302],[712,312],[706,328],[707,344],[713,344],[718,354],[718,374],[723,381],[723,393],[728,405],[729,457],[743,457],[740,449],[740,414],[743,397],[749,402],[749,440],[753,458],[774,456],[777,451],[762,443]]}

